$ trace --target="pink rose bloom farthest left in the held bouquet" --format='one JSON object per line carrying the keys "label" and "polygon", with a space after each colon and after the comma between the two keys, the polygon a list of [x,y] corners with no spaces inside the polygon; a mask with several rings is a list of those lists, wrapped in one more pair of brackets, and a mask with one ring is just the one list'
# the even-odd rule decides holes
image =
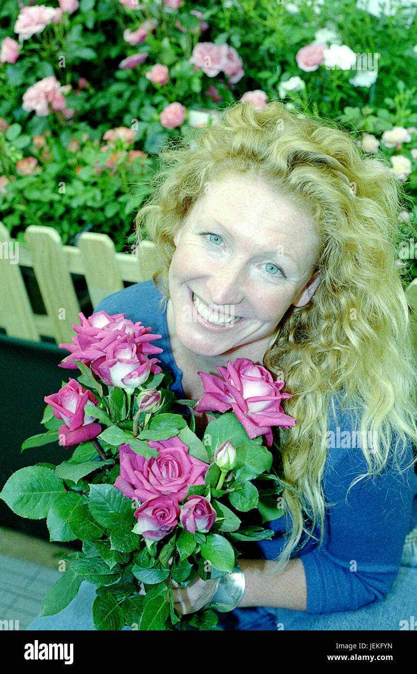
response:
{"label": "pink rose bloom farthest left in the held bouquet", "polygon": [[45,402],[52,406],[56,419],[64,421],[58,434],[65,437],[65,447],[78,445],[80,442],[92,440],[101,433],[101,426],[94,422],[96,417],[89,417],[84,412],[86,404],[98,404],[91,391],[86,390],[76,379],[70,379],[58,393],[45,396]]}

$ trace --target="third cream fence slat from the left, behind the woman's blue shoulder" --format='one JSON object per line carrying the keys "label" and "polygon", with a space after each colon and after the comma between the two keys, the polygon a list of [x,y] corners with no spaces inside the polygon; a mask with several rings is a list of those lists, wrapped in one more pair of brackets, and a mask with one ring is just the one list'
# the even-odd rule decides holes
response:
{"label": "third cream fence slat from the left, behind the woman's blue shoulder", "polygon": [[116,261],[116,249],[107,234],[84,233],[78,239],[78,248],[93,307],[117,290],[123,290],[123,281]]}

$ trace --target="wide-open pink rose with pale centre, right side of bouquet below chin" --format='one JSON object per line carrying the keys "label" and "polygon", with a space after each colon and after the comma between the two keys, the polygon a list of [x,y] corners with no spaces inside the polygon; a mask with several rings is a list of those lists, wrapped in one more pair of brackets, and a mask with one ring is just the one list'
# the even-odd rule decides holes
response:
{"label": "wide-open pink rose with pale centre, right side of bouquet below chin", "polygon": [[247,358],[238,358],[234,365],[227,361],[227,369],[217,366],[219,378],[198,372],[204,384],[204,395],[196,412],[225,412],[232,408],[250,439],[265,435],[267,446],[272,446],[271,426],[289,428],[298,423],[285,415],[281,400],[292,398],[280,393],[283,381],[273,381],[271,373],[262,365],[254,365]]}

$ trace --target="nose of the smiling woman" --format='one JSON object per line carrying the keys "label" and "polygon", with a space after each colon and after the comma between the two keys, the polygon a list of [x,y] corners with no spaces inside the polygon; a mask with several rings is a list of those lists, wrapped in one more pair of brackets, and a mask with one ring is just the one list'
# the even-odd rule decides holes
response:
{"label": "nose of the smiling woman", "polygon": [[242,262],[236,259],[228,259],[223,264],[218,264],[206,281],[206,287],[210,293],[213,305],[238,305],[242,302],[244,294],[242,287],[244,282],[244,269]]}

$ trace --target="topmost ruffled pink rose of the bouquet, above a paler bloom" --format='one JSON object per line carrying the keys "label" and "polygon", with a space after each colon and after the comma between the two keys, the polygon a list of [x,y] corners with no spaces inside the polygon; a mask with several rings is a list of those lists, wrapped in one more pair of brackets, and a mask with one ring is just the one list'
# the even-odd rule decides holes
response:
{"label": "topmost ruffled pink rose of the bouquet, above a paler bloom", "polygon": [[110,316],[106,311],[97,311],[88,319],[82,312],[78,315],[81,325],[71,324],[73,330],[77,333],[76,337],[72,337],[73,344],[59,344],[59,348],[71,351],[71,354],[65,356],[63,361],[59,363],[59,367],[78,369],[70,359],[75,359],[90,367],[93,361],[107,353],[109,345],[120,336],[130,336],[131,341],[136,344],[136,353],[140,352],[147,356],[163,351],[159,346],[148,343],[155,339],[161,339],[162,335],[150,334],[152,328],[144,328],[140,321],[132,323],[125,318],[125,313],[115,313]]}

